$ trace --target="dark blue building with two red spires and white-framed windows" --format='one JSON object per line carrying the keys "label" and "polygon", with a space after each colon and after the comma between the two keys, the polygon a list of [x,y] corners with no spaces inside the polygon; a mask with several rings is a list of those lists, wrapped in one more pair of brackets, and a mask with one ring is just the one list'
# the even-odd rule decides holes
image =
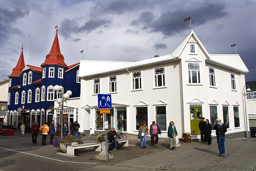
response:
{"label": "dark blue building with two red spires and white-framed windows", "polygon": [[[70,99],[80,97],[79,64],[67,66],[60,52],[58,30],[50,53],[40,67],[24,64],[23,48],[15,68],[8,76],[9,90],[7,102],[7,124],[18,125],[22,120],[30,126],[37,121],[39,125],[51,122],[54,117],[54,101],[61,98],[54,90],[72,91]],[[76,112],[76,111],[74,111]],[[76,115],[76,114],[74,114]],[[72,115],[69,115],[72,117]],[[68,120],[72,120],[73,118]],[[57,122],[56,122],[57,123]]]}

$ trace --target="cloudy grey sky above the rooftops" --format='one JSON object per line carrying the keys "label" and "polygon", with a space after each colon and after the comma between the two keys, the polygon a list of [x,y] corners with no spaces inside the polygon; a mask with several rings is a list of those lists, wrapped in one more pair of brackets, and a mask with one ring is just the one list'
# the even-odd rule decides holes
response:
{"label": "cloudy grey sky above the rooftops", "polygon": [[[58,24],[67,65],[84,60],[135,62],[171,54],[190,32],[209,54],[240,55],[256,80],[256,1],[0,0],[0,80],[8,79],[22,44],[25,65],[40,67]],[[29,37],[30,35],[30,37]],[[29,48],[28,48],[29,39]],[[28,58],[27,58],[28,54]],[[26,62],[27,60],[27,62]]]}

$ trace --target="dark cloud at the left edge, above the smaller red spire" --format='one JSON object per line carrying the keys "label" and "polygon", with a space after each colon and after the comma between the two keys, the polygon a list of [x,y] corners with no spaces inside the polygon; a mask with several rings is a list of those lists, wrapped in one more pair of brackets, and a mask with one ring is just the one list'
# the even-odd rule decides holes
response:
{"label": "dark cloud at the left edge, above the smaller red spire", "polygon": [[[14,27],[16,20],[23,18],[29,14],[29,11],[21,11],[20,9],[10,10],[7,8],[0,8],[0,42],[8,40],[8,35],[18,34],[21,35],[21,31]],[[0,47],[5,44],[1,43]]]}

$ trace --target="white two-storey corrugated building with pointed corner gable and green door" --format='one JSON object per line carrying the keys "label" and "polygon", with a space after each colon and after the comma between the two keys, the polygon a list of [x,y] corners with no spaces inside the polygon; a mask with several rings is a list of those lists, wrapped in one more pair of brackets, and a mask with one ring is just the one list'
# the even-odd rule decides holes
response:
{"label": "white two-storey corrugated building with pointed corner gable and green door", "polygon": [[[156,121],[167,137],[174,121],[179,137],[191,132],[198,139],[201,117],[210,123],[221,118],[227,136],[244,136],[244,72],[239,55],[208,54],[193,30],[170,55],[137,62],[81,60],[78,122],[84,130],[104,131],[102,121],[109,120],[109,127],[137,134],[142,122]],[[112,96],[106,118],[99,114],[98,94]]]}

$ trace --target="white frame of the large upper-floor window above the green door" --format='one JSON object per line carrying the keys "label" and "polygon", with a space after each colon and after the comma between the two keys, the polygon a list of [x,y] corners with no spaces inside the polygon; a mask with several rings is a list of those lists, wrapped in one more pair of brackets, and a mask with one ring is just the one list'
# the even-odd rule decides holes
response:
{"label": "white frame of the large upper-floor window above the green door", "polygon": [[[202,85],[202,72],[201,71],[201,62],[186,62],[187,64],[187,84],[188,85]],[[199,69],[192,69],[189,68],[189,64],[198,64]],[[197,82],[193,83],[193,78],[192,78],[192,71],[196,71],[196,77],[197,77]],[[198,72],[199,71],[199,72]],[[199,77],[198,77],[198,73],[199,73]],[[190,76],[190,82],[189,82],[189,76]],[[199,83],[199,79],[200,79],[200,83]]]}

